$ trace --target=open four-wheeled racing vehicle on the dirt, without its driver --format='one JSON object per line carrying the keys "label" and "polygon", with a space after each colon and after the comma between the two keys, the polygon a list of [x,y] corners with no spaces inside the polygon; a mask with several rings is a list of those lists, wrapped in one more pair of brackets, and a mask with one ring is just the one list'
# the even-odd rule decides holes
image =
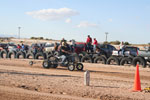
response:
{"label": "open four-wheeled racing vehicle on the dirt, without its driver", "polygon": [[57,68],[57,66],[67,67],[68,70],[73,71],[75,68],[77,70],[83,70],[83,64],[76,60],[75,54],[69,54],[66,56],[64,62],[62,62],[61,56],[51,55],[49,59],[43,61],[44,68]]}

